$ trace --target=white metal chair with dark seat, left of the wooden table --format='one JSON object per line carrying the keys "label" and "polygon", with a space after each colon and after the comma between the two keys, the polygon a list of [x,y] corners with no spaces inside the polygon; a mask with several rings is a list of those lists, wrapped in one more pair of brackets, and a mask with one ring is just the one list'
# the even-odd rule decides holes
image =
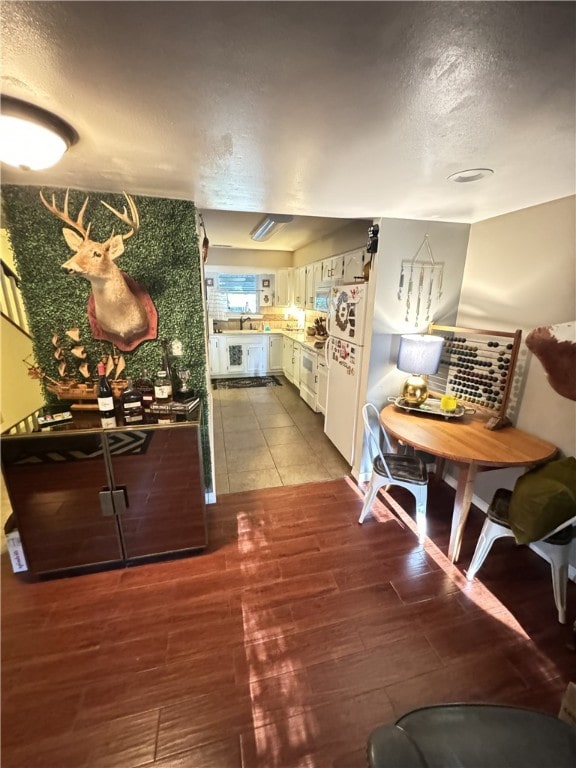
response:
{"label": "white metal chair with dark seat, left of the wooden table", "polygon": [[[416,524],[418,538],[426,538],[426,502],[428,499],[428,472],[422,459],[415,454],[398,454],[392,450],[390,439],[380,422],[378,409],[372,403],[362,408],[366,441],[372,462],[372,476],[366,490],[366,497],[359,523],[370,513],[370,507],[379,489],[399,485],[410,491],[416,499]],[[385,447],[383,452],[382,447]]]}

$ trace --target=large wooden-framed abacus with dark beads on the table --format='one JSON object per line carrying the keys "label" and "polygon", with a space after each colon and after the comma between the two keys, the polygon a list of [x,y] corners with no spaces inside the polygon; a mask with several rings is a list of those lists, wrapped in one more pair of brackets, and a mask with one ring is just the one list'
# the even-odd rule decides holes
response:
{"label": "large wooden-framed abacus with dark beads on the table", "polygon": [[506,417],[522,331],[489,331],[449,325],[430,325],[428,333],[444,338],[438,373],[429,388],[452,392],[459,401],[487,417]]}

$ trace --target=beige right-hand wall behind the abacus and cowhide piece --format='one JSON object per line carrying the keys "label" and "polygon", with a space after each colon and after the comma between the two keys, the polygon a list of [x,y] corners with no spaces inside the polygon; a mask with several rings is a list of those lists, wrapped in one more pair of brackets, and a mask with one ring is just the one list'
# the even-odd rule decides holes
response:
{"label": "beige right-hand wall behind the abacus and cowhide piece", "polygon": [[[576,198],[567,197],[473,224],[458,310],[459,325],[522,329],[526,372],[516,426],[567,456],[576,455],[576,403],[552,389],[524,339],[540,325],[576,319],[575,211]],[[476,495],[489,503],[524,471],[482,473]]]}

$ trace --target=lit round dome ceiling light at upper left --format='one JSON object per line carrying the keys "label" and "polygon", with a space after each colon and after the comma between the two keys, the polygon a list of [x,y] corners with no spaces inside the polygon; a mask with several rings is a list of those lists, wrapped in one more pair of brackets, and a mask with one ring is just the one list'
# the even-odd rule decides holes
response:
{"label": "lit round dome ceiling light at upper left", "polygon": [[77,141],[76,131],[51,112],[11,96],[2,96],[2,162],[22,170],[39,171],[50,168]]}

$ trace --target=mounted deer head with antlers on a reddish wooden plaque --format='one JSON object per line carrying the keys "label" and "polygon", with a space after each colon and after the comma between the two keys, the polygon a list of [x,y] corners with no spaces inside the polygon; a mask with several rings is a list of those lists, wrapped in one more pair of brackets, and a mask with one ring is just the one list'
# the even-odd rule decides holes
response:
{"label": "mounted deer head with antlers on a reddish wooden plaque", "polygon": [[84,214],[88,197],[76,219],[68,212],[68,193],[64,197],[64,207],[60,211],[54,195],[50,205],[40,192],[40,199],[58,219],[68,224],[62,234],[68,247],[75,251],[62,268],[70,275],[84,277],[92,286],[88,302],[88,317],[96,339],[106,339],[119,349],[127,352],[134,349],[141,341],[156,337],[157,315],[150,296],[144,289],[122,272],[115,264],[124,253],[124,241],[138,232],[140,221],[134,200],[124,193],[126,206],[122,212],[108,203],[100,202],[117,216],[129,230],[124,234],[114,234],[103,243],[90,238],[90,224],[84,225]]}

